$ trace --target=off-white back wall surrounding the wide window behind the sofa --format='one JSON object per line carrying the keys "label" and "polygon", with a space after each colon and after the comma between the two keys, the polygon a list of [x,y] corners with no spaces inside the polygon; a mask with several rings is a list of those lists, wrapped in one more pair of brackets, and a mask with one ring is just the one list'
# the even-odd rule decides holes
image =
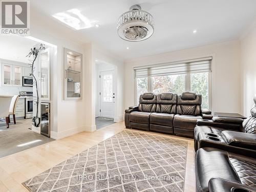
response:
{"label": "off-white back wall surrounding the wide window behind the sofa", "polygon": [[202,46],[125,60],[125,109],[134,105],[133,67],[212,56],[212,103],[214,112],[241,113],[240,42]]}

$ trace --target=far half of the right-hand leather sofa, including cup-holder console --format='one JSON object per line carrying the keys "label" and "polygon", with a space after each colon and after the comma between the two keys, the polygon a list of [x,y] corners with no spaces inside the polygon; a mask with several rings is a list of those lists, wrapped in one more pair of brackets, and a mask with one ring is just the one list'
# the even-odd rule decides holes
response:
{"label": "far half of the right-hand leather sofa, including cup-holder console", "polygon": [[[195,151],[201,147],[215,147],[250,153],[256,150],[256,96],[251,116],[240,118],[214,117],[212,120],[198,120],[195,127]],[[247,152],[246,152],[247,151]]]}

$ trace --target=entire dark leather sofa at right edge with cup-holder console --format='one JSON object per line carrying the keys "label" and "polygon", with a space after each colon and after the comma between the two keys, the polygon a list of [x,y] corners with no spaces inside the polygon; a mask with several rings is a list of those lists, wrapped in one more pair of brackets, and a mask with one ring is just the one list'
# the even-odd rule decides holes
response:
{"label": "entire dark leather sofa at right edge with cup-holder console", "polygon": [[216,117],[198,121],[195,128],[198,192],[256,192],[256,95],[254,103],[251,116],[245,120]]}

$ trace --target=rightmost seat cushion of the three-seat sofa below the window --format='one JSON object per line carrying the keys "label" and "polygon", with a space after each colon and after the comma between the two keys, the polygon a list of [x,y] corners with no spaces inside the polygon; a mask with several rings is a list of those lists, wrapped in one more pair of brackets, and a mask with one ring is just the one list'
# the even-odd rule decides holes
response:
{"label": "rightmost seat cushion of the three-seat sofa below the window", "polygon": [[198,119],[202,119],[202,117],[177,114],[174,116],[174,125],[173,126],[178,127],[178,128],[187,129],[187,130],[194,130]]}

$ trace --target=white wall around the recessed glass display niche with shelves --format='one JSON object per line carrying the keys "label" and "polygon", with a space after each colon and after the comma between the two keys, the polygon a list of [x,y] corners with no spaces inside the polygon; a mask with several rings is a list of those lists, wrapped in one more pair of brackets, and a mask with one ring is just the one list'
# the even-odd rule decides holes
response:
{"label": "white wall around the recessed glass display niche with shelves", "polygon": [[[57,46],[56,52],[52,55],[56,58],[55,62],[51,63],[51,136],[59,139],[78,132],[91,131],[92,123],[88,119],[92,112],[87,108],[89,104],[86,101],[87,96],[91,94],[86,83],[87,70],[91,62],[91,48],[71,39],[75,36],[74,31],[65,29],[51,20],[45,20],[33,12],[31,13],[31,36]],[[82,99],[78,101],[63,100],[63,48],[83,54]]]}

